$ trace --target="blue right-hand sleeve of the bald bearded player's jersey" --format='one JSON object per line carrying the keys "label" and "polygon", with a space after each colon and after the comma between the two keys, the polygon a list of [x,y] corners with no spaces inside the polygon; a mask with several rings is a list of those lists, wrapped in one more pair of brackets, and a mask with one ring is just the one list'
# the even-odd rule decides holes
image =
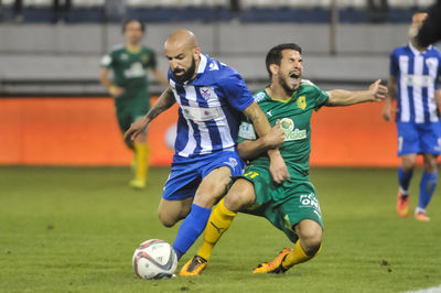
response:
{"label": "blue right-hand sleeve of the bald bearded player's jersey", "polygon": [[239,111],[246,109],[255,100],[238,73],[233,73],[222,78],[219,86],[228,104]]}

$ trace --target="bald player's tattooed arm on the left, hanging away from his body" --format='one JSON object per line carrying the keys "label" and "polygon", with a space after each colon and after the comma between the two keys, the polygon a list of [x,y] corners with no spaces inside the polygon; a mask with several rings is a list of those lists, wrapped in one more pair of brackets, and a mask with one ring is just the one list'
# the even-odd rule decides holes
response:
{"label": "bald player's tattooed arm on the left, hanging away from his body", "polygon": [[153,120],[155,117],[158,117],[160,113],[169,109],[171,106],[176,100],[174,99],[173,96],[173,90],[168,87],[159,97],[158,101],[154,104],[154,106],[150,109],[150,111],[139,118],[137,121],[131,123],[130,128],[126,131],[125,133],[125,142],[129,148],[133,148],[133,141],[135,139],[141,134],[142,132],[146,132],[147,127]]}

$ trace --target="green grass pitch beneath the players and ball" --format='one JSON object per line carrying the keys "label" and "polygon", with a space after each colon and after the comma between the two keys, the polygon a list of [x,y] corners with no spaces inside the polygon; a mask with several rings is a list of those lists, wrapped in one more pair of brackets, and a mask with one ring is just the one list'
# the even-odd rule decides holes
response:
{"label": "green grass pitch beneath the players and ball", "polygon": [[[391,169],[313,169],[323,251],[284,275],[251,273],[290,242],[265,219],[240,214],[202,275],[137,279],[137,245],[172,242],[178,231],[157,217],[168,172],[151,169],[140,192],[127,187],[126,167],[1,166],[0,292],[399,292],[441,283],[440,188],[430,223],[399,218]],[[420,175],[411,185],[412,211]]]}

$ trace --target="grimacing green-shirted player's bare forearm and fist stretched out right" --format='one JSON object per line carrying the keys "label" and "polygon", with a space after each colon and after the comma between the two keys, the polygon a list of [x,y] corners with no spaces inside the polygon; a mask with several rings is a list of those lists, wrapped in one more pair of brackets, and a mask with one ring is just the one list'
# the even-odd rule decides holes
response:
{"label": "grimacing green-shirted player's bare forearm and fist stretched out right", "polygon": [[380,79],[377,79],[367,90],[332,89],[327,91],[330,98],[326,106],[349,106],[365,101],[381,101],[387,95],[387,87],[380,85]]}

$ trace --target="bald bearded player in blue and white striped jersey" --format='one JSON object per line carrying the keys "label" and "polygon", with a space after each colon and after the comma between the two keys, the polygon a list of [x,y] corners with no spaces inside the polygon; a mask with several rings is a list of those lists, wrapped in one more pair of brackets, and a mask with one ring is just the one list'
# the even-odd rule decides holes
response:
{"label": "bald bearded player in blue and white striped jersey", "polygon": [[[245,162],[236,150],[241,113],[252,121],[259,135],[271,128],[241,76],[202,54],[192,32],[179,30],[171,34],[164,52],[170,87],[144,117],[132,123],[125,139],[132,143],[152,119],[178,101],[175,154],[158,214],[166,227],[185,218],[173,243],[181,258],[204,230],[230,176],[243,172]],[[283,142],[283,131],[275,130],[266,138],[268,149],[275,149]],[[269,155],[271,174],[282,182],[289,176],[283,159],[277,149],[269,150]]]}

